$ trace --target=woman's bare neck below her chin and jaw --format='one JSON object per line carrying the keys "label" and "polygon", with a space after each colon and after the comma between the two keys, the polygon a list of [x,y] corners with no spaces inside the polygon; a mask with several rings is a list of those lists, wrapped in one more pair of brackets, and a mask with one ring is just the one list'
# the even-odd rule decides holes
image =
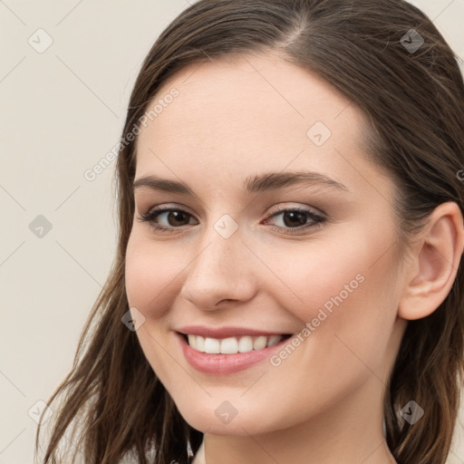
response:
{"label": "woman's bare neck below her chin and jaw", "polygon": [[249,433],[243,424],[239,436],[206,433],[206,464],[396,464],[383,436],[379,384],[372,375],[332,407],[283,430]]}

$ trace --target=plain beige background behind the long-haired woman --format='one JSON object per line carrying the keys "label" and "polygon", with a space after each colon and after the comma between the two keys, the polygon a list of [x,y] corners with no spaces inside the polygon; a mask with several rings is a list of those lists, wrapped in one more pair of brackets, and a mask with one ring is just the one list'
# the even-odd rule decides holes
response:
{"label": "plain beige background behind the long-haired woman", "polygon": [[[412,3],[464,57],[464,0]],[[84,172],[119,140],[145,54],[187,6],[0,0],[0,464],[33,462],[37,401],[70,369],[111,266],[114,162]],[[463,433],[459,422],[449,464],[464,463]]]}

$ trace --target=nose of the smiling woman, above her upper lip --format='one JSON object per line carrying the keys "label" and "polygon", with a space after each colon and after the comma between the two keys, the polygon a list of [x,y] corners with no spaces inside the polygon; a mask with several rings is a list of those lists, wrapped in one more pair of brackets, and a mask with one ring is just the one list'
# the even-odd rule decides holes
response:
{"label": "nose of the smiling woman, above her upper lip", "polygon": [[238,228],[230,237],[208,227],[188,266],[180,295],[198,308],[212,311],[223,300],[245,302],[256,293],[258,260]]}

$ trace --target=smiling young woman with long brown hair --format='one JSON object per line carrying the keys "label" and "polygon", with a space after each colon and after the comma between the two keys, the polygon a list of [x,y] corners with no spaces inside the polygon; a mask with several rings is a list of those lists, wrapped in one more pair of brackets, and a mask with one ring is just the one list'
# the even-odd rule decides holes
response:
{"label": "smiling young woman with long brown hair", "polygon": [[131,94],[118,256],[43,462],[75,425],[88,463],[444,463],[463,102],[401,0],[179,14]]}

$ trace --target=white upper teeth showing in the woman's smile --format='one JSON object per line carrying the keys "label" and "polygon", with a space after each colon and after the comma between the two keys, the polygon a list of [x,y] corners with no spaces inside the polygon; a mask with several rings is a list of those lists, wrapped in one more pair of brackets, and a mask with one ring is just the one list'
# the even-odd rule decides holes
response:
{"label": "white upper teeth showing in the woman's smile", "polygon": [[272,346],[279,343],[283,335],[271,335],[269,337],[260,335],[257,337],[229,337],[218,340],[217,338],[202,337],[201,335],[192,335],[189,333],[189,345],[198,352],[203,353],[247,353],[252,350],[262,350],[266,346]]}

